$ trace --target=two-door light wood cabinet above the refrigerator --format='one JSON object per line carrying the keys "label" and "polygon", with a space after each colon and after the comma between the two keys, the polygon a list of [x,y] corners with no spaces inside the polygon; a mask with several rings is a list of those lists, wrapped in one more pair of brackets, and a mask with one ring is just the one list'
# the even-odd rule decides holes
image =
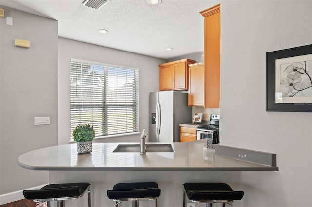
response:
{"label": "two-door light wood cabinet above the refrigerator", "polygon": [[188,64],[195,60],[182,59],[159,65],[159,90],[187,90]]}

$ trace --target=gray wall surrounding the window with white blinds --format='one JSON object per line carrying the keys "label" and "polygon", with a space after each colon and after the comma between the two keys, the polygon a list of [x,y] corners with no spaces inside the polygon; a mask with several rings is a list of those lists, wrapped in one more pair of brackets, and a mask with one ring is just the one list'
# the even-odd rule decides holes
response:
{"label": "gray wall surrounding the window with white blinds", "polygon": [[[139,46],[138,46],[139,47]],[[167,60],[105,48],[59,37],[58,104],[59,144],[70,141],[70,59],[89,60],[119,66],[139,68],[139,131],[148,134],[149,93],[158,90],[158,64]],[[139,142],[139,134],[94,139],[95,142]]]}

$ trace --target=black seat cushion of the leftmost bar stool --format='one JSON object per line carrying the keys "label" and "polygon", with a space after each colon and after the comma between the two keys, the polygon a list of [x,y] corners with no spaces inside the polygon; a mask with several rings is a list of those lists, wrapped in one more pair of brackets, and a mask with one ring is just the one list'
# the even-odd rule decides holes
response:
{"label": "black seat cushion of the leftmost bar stool", "polygon": [[23,194],[26,199],[79,197],[89,186],[89,183],[49,184],[39,190],[24,190]]}

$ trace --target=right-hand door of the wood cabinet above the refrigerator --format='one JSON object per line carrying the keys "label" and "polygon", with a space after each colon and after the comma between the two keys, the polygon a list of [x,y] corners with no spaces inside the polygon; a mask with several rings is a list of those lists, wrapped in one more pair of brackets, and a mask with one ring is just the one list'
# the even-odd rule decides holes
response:
{"label": "right-hand door of the wood cabinet above the refrigerator", "polygon": [[172,89],[186,90],[187,89],[187,67],[186,62],[175,63],[172,65]]}

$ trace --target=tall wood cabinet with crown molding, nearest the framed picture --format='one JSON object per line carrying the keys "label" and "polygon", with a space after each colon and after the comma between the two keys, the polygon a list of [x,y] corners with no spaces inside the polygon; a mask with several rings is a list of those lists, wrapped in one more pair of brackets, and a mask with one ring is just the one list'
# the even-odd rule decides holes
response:
{"label": "tall wood cabinet with crown molding, nearest the framed picture", "polygon": [[203,10],[205,108],[219,108],[220,102],[220,4]]}

